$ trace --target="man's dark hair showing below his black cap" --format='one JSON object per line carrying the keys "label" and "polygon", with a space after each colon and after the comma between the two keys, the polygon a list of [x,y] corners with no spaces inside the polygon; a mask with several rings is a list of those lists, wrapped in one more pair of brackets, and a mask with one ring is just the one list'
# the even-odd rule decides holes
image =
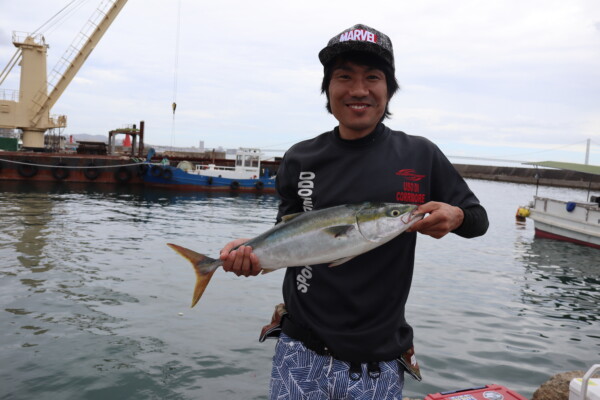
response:
{"label": "man's dark hair showing below his black cap", "polygon": [[[376,68],[385,74],[385,82],[387,84],[387,104],[385,105],[385,112],[381,117],[381,121],[386,118],[389,118],[392,113],[389,110],[390,100],[392,96],[400,89],[398,85],[398,81],[396,80],[396,76],[394,74],[394,68],[388,64],[382,58],[362,51],[349,51],[342,55],[337,56],[333,60],[331,60],[325,67],[323,68],[323,82],[321,83],[321,93],[325,93],[327,97],[327,104],[325,108],[331,114],[331,103],[329,101],[329,83],[331,82],[331,76],[333,75],[333,70],[338,66],[345,62],[352,62],[357,65],[367,66],[370,68]],[[381,122],[379,121],[379,122]]]}

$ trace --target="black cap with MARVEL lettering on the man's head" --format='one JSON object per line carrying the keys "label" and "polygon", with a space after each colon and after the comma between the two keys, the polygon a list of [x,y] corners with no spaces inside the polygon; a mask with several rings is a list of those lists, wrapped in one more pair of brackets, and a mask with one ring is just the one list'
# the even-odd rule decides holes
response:
{"label": "black cap with MARVEL lettering on the man's head", "polygon": [[385,34],[366,25],[357,24],[331,38],[327,47],[319,52],[324,66],[335,57],[348,51],[364,51],[375,54],[394,68],[392,41]]}

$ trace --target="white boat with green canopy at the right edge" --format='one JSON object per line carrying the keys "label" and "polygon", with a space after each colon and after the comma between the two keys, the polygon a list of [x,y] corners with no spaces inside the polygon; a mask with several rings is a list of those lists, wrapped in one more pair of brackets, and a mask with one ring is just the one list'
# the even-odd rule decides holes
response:
{"label": "white boat with green canopy at the right edge", "polygon": [[[585,172],[590,174],[590,182],[600,176],[598,166],[551,161],[535,165]],[[588,195],[588,198],[589,202],[578,202],[534,196],[529,206],[519,208],[517,218],[532,219],[536,237],[600,249],[600,197]]]}

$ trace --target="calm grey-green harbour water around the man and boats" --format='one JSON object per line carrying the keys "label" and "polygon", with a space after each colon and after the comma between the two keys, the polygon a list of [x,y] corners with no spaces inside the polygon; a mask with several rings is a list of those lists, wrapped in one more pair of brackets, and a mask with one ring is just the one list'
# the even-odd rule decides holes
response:
{"label": "calm grey-green harbour water around the man and boats", "polygon": [[[407,378],[405,396],[498,383],[530,397],[600,362],[600,251],[515,223],[534,186],[469,184],[491,227],[473,240],[420,236],[408,319],[424,381]],[[193,271],[165,243],[216,255],[268,229],[276,207],[272,196],[0,182],[0,398],[267,398],[274,342],[257,338],[283,271],[218,271],[190,309]]]}

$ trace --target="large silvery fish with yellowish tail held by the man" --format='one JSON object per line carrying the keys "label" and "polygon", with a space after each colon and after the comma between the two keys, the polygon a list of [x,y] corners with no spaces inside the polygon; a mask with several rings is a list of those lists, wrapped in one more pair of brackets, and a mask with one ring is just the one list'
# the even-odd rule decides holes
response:
{"label": "large silvery fish with yellowish tail held by the man", "polygon": [[[420,221],[424,214],[415,213],[417,207],[366,202],[289,214],[242,245],[252,247],[263,273],[316,264],[336,267],[389,242]],[[173,243],[167,245],[194,267],[194,307],[222,261]]]}

